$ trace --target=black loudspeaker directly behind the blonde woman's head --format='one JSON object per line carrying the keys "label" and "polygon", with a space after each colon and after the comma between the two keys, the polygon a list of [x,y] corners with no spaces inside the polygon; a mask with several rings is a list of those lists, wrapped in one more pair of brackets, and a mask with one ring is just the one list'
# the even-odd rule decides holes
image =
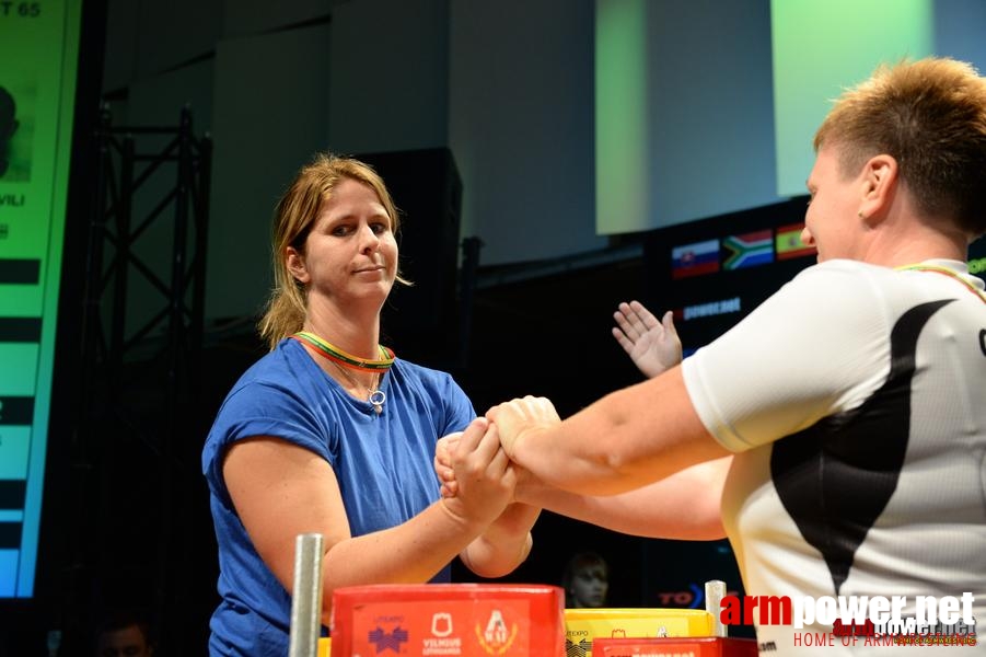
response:
{"label": "black loudspeaker directly behind the blonde woman's head", "polygon": [[399,357],[441,367],[460,344],[462,180],[448,148],[353,155],[383,177],[401,215],[401,273],[383,309],[381,342]]}

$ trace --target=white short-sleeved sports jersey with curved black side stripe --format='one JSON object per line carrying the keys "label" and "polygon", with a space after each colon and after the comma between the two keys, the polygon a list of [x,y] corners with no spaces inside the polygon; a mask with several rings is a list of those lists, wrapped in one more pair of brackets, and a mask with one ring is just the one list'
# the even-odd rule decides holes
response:
{"label": "white short-sleeved sports jersey with curved black side stripe", "polygon": [[[809,267],[682,367],[735,452],[722,516],[749,596],[904,596],[908,616],[971,592],[986,639],[986,298],[962,263],[920,266]],[[758,626],[762,654],[813,654],[793,632]]]}

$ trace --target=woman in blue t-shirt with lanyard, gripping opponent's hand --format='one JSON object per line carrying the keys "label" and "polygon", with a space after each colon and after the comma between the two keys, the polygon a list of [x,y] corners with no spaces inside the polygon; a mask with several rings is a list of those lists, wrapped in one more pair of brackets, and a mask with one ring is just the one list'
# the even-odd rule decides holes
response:
{"label": "woman in blue t-shirt with lanyard, gripping opponent's hand", "polygon": [[[502,576],[531,550],[540,509],[512,504],[515,474],[448,373],[380,345],[398,275],[398,216],[380,176],[322,154],[275,215],[270,353],[233,385],[202,451],[222,598],[211,655],[288,652],[295,538],[324,537],[323,622],[333,591],[448,581],[462,558]],[[462,485],[441,499],[437,440]]]}

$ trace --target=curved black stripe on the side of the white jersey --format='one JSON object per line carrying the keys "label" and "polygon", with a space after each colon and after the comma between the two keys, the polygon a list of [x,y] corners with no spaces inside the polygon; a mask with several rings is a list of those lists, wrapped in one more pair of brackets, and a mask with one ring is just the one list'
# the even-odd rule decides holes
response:
{"label": "curved black stripe on the side of the white jersey", "polygon": [[901,315],[890,336],[890,374],[861,406],[774,443],[774,486],[801,535],[825,557],[836,595],[897,487],[910,434],[917,338],[952,301],[930,301]]}

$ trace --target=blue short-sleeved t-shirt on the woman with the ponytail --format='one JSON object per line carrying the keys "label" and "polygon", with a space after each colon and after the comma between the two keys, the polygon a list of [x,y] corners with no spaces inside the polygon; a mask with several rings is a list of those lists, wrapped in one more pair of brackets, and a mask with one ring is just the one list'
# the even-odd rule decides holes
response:
{"label": "blue short-sleeved t-shirt on the woman with the ponytail", "polygon": [[[350,396],[297,341],[285,339],[233,385],[202,450],[219,545],[211,655],[287,655],[288,591],[256,550],[222,477],[225,450],[275,436],[332,465],[353,537],[401,525],[439,498],[434,443],[461,431],[473,406],[448,373],[395,360],[383,377],[383,412]],[[446,566],[433,581],[448,581]]]}

